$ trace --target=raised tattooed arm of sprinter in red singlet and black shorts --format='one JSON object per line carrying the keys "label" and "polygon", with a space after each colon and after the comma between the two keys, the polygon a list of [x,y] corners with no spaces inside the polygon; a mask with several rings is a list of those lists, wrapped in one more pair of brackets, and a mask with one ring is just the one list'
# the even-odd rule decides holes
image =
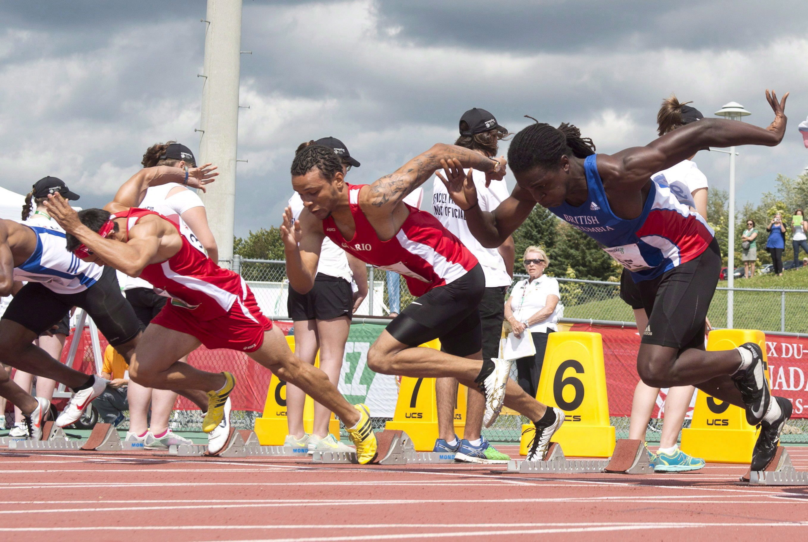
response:
{"label": "raised tattooed arm of sprinter in red singlet and black shorts", "polygon": [[[486,158],[481,153],[464,149],[455,145],[438,143],[433,145],[426,153],[419,154],[410,162],[385,175],[364,190],[363,204],[371,206],[379,213],[392,212],[404,200],[404,197],[415,188],[421,186],[437,170],[448,169],[452,162],[457,162],[463,168],[471,167],[475,170],[485,171],[486,177],[502,179],[505,173],[504,160]],[[363,205],[364,207],[364,205]]]}

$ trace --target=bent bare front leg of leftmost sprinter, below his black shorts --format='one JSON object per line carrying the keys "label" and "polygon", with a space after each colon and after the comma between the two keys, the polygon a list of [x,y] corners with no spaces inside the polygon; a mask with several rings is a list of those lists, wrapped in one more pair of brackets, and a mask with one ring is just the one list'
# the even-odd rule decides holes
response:
{"label": "bent bare front leg of leftmost sprinter, below his black shorts", "polygon": [[0,320],[0,362],[30,372],[36,376],[52,378],[69,388],[86,384],[88,376],[66,367],[47,352],[33,344],[36,334],[17,322]]}

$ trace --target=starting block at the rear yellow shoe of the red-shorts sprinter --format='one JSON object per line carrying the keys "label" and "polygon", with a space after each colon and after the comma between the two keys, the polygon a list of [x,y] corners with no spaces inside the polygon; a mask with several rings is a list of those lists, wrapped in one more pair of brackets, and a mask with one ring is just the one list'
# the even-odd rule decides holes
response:
{"label": "starting block at the rear yellow shoe of the red-shorts sprinter", "polygon": [[[378,431],[376,464],[437,464],[454,463],[455,454],[450,452],[416,452],[410,435],[402,430]],[[314,452],[314,463],[359,464],[355,452]]]}

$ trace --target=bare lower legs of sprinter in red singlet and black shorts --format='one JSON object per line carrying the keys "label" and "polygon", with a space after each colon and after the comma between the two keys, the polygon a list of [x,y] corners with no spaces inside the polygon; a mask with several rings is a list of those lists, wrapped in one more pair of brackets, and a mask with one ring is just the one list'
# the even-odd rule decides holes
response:
{"label": "bare lower legs of sprinter in red singlet and black shorts", "polygon": [[[385,330],[368,351],[368,367],[385,375],[453,376],[469,389],[478,389],[474,379],[480,374],[482,360],[460,358],[434,348],[410,347]],[[507,381],[504,404],[532,422],[540,420],[547,410],[513,380]]]}

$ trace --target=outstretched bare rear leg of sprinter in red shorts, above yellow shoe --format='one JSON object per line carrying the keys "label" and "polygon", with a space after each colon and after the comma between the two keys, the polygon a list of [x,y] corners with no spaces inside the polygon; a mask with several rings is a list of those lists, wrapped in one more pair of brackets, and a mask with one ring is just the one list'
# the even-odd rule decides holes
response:
{"label": "outstretched bare rear leg of sprinter in red shorts, above yellow shoe", "polygon": [[345,426],[355,426],[359,422],[359,412],[340,395],[326,373],[292,354],[284,335],[277,327],[263,334],[263,344],[257,351],[250,353],[250,358],[274,372],[278,378],[297,385],[314,401],[325,405]]}

